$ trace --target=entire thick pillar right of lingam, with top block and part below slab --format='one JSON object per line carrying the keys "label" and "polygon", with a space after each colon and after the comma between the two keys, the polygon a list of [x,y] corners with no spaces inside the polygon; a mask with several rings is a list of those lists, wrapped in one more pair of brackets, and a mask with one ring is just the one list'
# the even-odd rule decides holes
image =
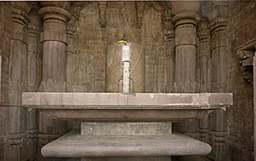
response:
{"label": "entire thick pillar right of lingam, with top block and part below slab", "polygon": [[[201,17],[200,3],[172,2],[172,13],[175,14],[175,92],[196,92],[196,51],[197,26]],[[176,131],[182,131],[193,138],[198,138],[199,120],[194,119],[174,123]]]}

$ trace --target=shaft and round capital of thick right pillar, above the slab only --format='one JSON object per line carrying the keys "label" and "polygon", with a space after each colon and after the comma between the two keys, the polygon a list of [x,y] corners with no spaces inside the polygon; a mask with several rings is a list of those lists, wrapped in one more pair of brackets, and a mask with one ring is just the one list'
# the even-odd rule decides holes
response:
{"label": "shaft and round capital of thick right pillar, above the slab only", "polygon": [[175,92],[196,91],[196,13],[175,15]]}

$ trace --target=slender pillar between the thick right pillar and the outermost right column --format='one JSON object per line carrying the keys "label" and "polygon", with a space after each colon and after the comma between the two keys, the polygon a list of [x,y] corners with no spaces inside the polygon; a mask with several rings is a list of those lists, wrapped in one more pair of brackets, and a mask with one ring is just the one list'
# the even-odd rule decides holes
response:
{"label": "slender pillar between the thick right pillar and the outermost right column", "polygon": [[[209,52],[209,22],[202,20],[200,23],[200,50],[199,50],[199,61],[200,61],[200,92],[206,93],[210,89],[210,52]],[[200,119],[200,131],[201,140],[208,142],[209,133],[209,117],[208,115]]]}

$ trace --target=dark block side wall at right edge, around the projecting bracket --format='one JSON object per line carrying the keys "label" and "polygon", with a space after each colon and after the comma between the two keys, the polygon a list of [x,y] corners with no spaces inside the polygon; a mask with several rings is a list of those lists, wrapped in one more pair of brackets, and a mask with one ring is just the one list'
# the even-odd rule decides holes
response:
{"label": "dark block side wall at right edge, around the projecting bracket", "polygon": [[234,106],[227,110],[228,146],[231,160],[253,160],[253,88],[243,79],[235,47],[256,38],[255,2],[230,3],[228,20],[228,91],[234,94]]}

